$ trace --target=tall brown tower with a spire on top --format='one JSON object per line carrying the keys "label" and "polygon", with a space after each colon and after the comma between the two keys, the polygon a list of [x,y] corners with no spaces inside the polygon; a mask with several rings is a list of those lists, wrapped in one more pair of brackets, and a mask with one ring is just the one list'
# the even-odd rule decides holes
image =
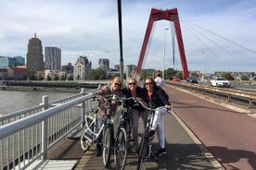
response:
{"label": "tall brown tower with a spire on top", "polygon": [[44,55],[42,42],[34,37],[29,40],[28,53],[27,53],[27,71],[29,78],[36,75],[37,71],[44,70]]}

